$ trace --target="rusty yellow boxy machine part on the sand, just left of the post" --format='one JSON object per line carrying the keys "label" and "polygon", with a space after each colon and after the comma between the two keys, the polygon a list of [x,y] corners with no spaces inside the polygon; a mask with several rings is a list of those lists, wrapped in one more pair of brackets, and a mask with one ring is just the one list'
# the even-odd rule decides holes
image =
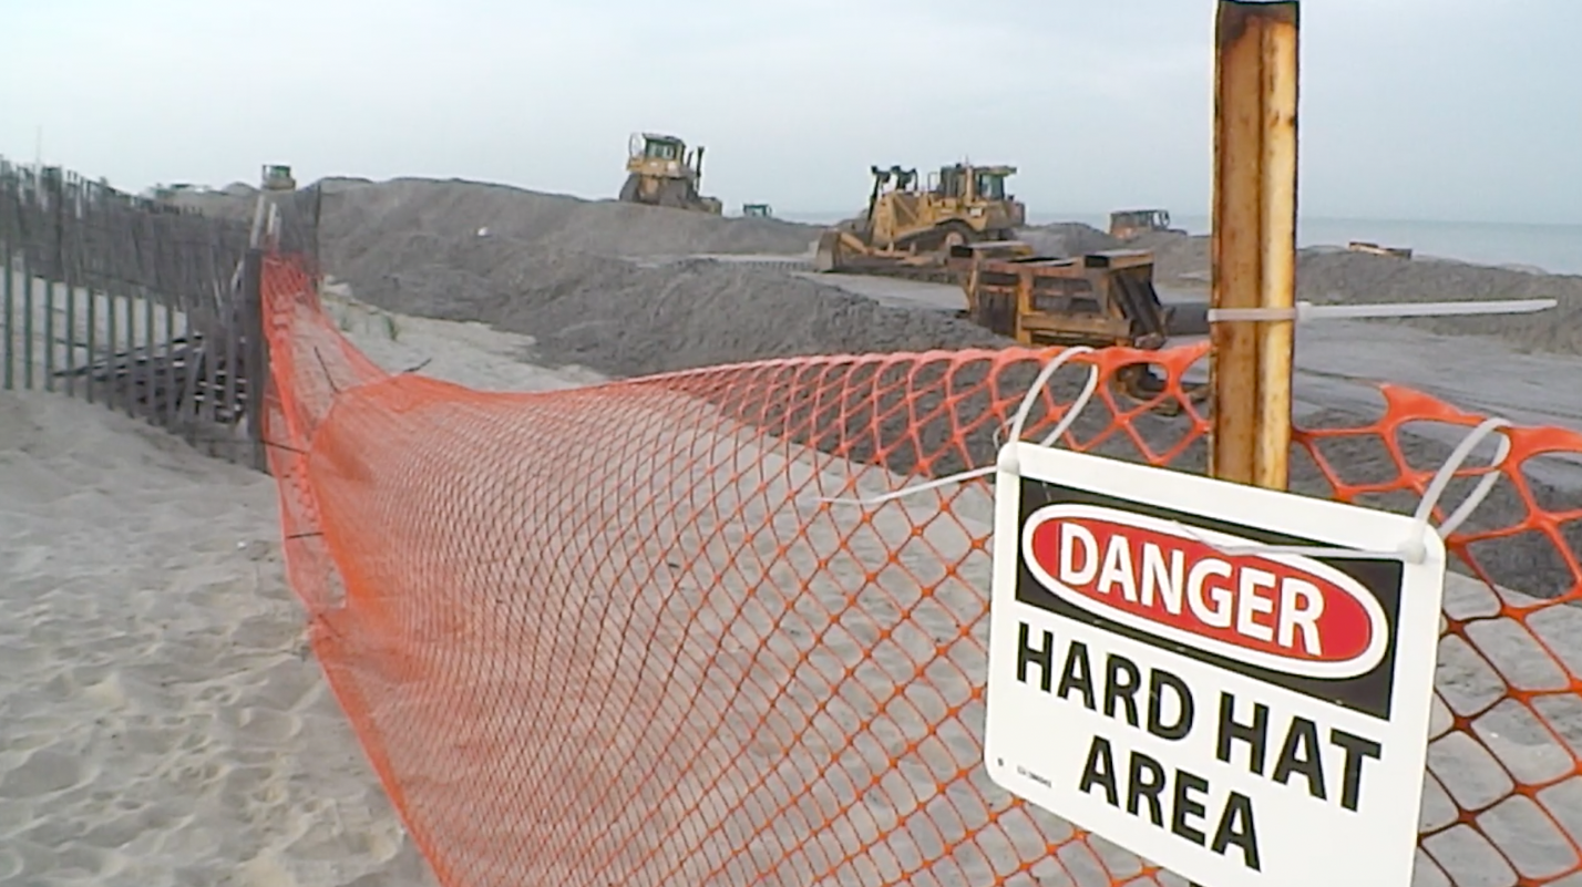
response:
{"label": "rusty yellow boxy machine part on the sand, just left of the post", "polygon": [[[962,316],[1027,346],[1085,345],[1156,351],[1169,338],[1172,310],[1153,289],[1153,253],[1106,250],[1057,259],[993,256],[971,245],[946,259],[962,281]],[[1134,364],[1115,379],[1122,391],[1152,400],[1164,383],[1147,364]],[[1205,397],[1188,387],[1193,400]],[[1156,410],[1180,411],[1175,402]]]}

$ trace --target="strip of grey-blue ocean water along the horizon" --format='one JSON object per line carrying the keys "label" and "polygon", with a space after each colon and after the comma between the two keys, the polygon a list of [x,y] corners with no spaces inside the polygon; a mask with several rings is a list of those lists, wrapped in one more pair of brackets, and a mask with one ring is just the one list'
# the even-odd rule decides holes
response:
{"label": "strip of grey-blue ocean water along the horizon", "polygon": [[[842,213],[782,213],[793,221],[827,225]],[[850,215],[850,213],[845,213]],[[1030,213],[1033,225],[1084,221],[1109,226],[1104,213]],[[1175,215],[1175,228],[1209,232],[1209,217]],[[1370,240],[1381,247],[1411,247],[1419,256],[1460,259],[1490,266],[1523,266],[1549,274],[1582,275],[1582,225],[1506,225],[1489,221],[1394,221],[1376,218],[1307,218],[1297,223],[1302,247]]]}

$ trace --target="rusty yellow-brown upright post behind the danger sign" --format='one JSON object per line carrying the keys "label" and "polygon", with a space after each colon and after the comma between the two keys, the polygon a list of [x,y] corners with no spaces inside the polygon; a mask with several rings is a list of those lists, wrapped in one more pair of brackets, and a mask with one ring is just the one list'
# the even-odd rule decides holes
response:
{"label": "rusty yellow-brown upright post behind the danger sign", "polygon": [[1210,308],[1286,310],[1210,329],[1215,477],[1285,489],[1296,308],[1299,2],[1220,0]]}

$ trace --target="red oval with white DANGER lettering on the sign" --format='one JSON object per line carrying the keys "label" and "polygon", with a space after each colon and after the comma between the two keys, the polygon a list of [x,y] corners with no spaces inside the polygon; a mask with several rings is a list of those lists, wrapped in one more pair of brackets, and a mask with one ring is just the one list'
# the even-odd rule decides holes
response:
{"label": "red oval with white DANGER lettering on the sign", "polygon": [[[1087,610],[1229,648],[1221,651],[1243,650],[1258,664],[1297,674],[1361,674],[1334,669],[1376,661],[1383,651],[1383,610],[1361,583],[1327,564],[1226,555],[1166,530],[1166,522],[1112,509],[1050,506],[1043,512],[1027,534],[1025,555],[1046,585],[1050,579],[1058,585],[1052,591],[1074,594],[1073,602]],[[1318,664],[1332,666],[1315,670]]]}

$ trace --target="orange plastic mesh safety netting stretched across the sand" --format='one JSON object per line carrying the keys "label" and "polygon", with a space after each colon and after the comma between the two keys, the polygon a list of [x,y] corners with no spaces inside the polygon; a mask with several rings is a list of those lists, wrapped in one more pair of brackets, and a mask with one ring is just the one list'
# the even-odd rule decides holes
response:
{"label": "orange plastic mesh safety netting stretched across the sand", "polygon": [[[264,297],[291,580],[441,882],[1179,882],[979,765],[987,484],[818,501],[992,463],[1050,353],[489,394],[381,372],[282,259]],[[1198,471],[1207,425],[1180,379],[1202,356],[1082,356],[1025,436],[1087,367],[1147,359],[1169,376],[1153,406],[1177,414],[1106,384],[1065,444]],[[1304,430],[1294,489],[1410,509],[1481,421],[1398,387],[1384,400],[1365,427]],[[1509,438],[1500,485],[1451,539],[1465,566],[1446,593],[1421,884],[1582,884],[1582,503],[1544,479],[1577,468],[1582,435]]]}

